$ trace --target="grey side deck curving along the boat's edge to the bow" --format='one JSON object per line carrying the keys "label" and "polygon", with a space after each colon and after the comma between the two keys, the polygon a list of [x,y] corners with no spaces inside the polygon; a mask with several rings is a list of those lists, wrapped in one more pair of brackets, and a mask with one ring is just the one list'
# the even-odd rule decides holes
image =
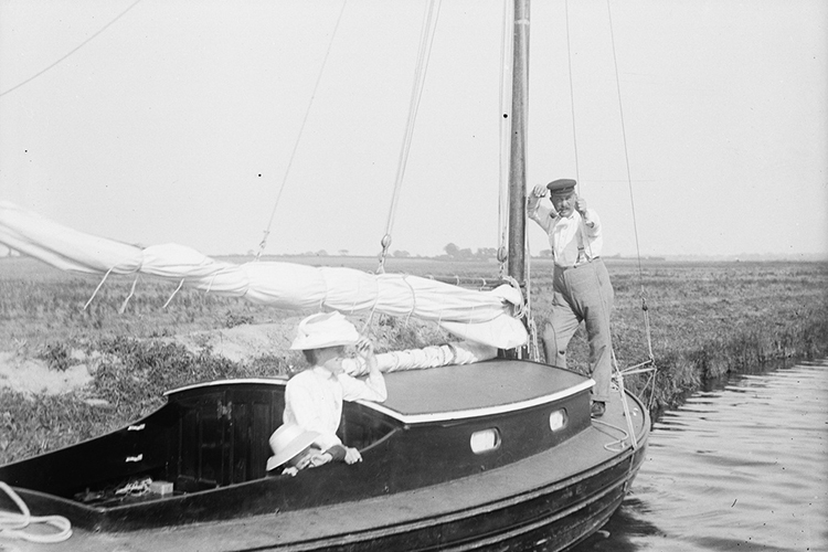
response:
{"label": "grey side deck curving along the boat's edge to the bow", "polygon": [[[629,406],[635,433],[640,439],[649,429],[648,417],[634,401]],[[607,465],[624,461],[633,454],[628,444],[627,450],[618,454],[617,440],[626,431],[622,401],[614,393],[602,421],[594,422],[578,436],[552,450],[475,477],[373,499],[222,522],[123,533],[76,530],[60,549],[78,552],[304,550],[302,544],[288,548],[285,543],[305,542],[307,549],[316,549],[320,544],[343,545],[355,539],[380,539],[401,527],[436,527],[445,522],[446,517],[473,517],[516,500],[527,500],[563,486],[561,481],[567,478],[585,478],[590,473],[606,469]],[[561,463],[561,458],[573,461]],[[355,465],[350,469],[370,469],[370,466]],[[312,476],[312,471],[307,471],[297,477]],[[505,489],[509,489],[508,493]],[[14,546],[21,552],[42,550],[42,544],[22,541],[14,541]]]}

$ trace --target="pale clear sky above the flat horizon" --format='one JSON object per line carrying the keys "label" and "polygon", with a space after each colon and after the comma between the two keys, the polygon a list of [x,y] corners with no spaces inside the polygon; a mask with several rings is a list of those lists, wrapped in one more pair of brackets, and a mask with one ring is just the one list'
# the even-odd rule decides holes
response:
{"label": "pale clear sky above the flat horizon", "polygon": [[[268,227],[265,254],[375,255],[425,7],[0,0],[0,201],[208,255]],[[503,13],[440,4],[392,252],[499,245]],[[535,0],[530,38],[527,185],[577,178],[605,255],[828,257],[828,2]]]}

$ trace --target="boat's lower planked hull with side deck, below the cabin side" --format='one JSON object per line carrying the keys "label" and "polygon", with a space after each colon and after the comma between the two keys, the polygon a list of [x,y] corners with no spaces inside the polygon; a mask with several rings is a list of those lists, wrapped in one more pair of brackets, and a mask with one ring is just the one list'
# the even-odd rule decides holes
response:
{"label": "boat's lower planked hull with side deck, below the cabin side", "polygon": [[[644,459],[646,432],[639,437],[645,440],[636,450],[627,449],[587,471],[539,482],[533,489],[526,479],[535,480],[544,465],[560,458],[539,455],[477,481],[464,478],[305,511],[166,530],[108,534],[81,530],[63,546],[89,552],[114,545],[136,552],[565,550],[599,529],[620,505]],[[562,452],[590,446],[570,445]],[[510,474],[516,470],[521,474]],[[521,481],[516,482],[516,477]],[[519,492],[509,495],[510,487]],[[498,499],[497,495],[507,496]]]}

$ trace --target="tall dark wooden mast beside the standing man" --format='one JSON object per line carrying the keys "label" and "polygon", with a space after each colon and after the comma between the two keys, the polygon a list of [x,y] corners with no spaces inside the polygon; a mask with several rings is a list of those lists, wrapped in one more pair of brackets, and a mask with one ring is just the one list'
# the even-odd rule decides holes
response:
{"label": "tall dark wooden mast beside the standing man", "polygon": [[514,3],[514,50],[512,54],[512,135],[509,155],[508,274],[524,296],[527,233],[527,112],[529,103],[529,2]]}

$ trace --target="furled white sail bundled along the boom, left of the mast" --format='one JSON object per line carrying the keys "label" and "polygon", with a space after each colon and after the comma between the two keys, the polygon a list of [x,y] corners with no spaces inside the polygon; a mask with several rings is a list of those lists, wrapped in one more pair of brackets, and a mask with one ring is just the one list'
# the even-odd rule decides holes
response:
{"label": "furled white sail bundled along the boom, left of the mast", "polygon": [[501,349],[528,339],[523,323],[512,316],[521,294],[508,285],[478,291],[403,274],[277,262],[233,264],[183,245],[138,247],[84,234],[9,202],[0,202],[0,243],[61,270],[147,274],[279,308],[413,316]]}

